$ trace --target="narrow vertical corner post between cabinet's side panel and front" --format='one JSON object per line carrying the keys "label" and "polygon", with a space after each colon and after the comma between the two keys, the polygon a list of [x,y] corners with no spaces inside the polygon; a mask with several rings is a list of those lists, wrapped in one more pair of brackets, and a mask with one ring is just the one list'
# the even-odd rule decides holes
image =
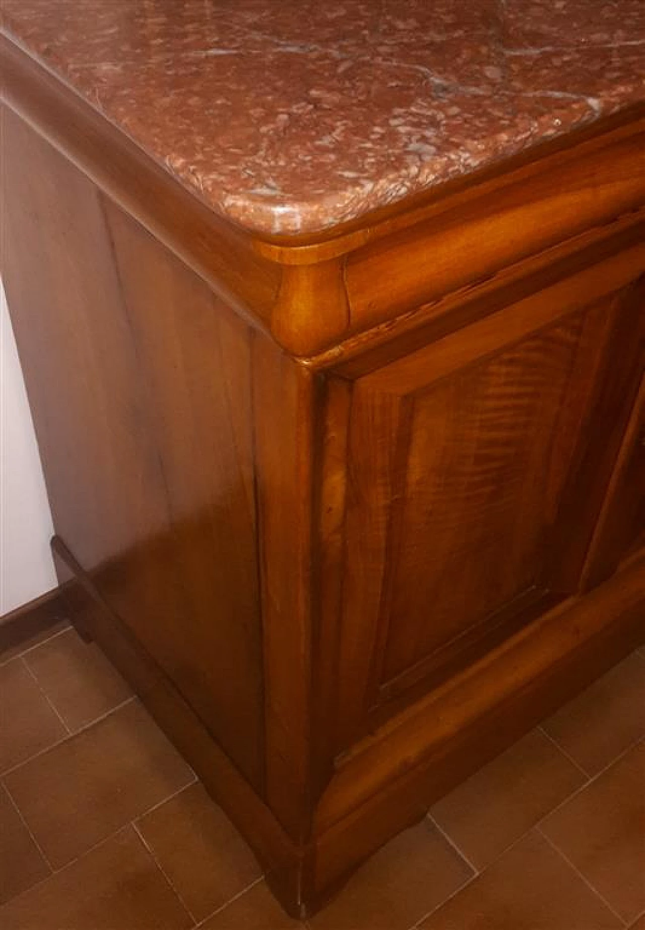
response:
{"label": "narrow vertical corner post between cabinet's side panel and front", "polygon": [[267,797],[299,842],[310,812],[313,401],[309,371],[258,337],[254,422]]}

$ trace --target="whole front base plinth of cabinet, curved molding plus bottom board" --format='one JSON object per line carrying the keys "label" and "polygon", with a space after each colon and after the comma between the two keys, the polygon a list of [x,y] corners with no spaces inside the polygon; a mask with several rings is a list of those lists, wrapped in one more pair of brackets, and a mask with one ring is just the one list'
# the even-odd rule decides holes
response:
{"label": "whole front base plinth of cabinet, curved molding plus bottom board", "polygon": [[644,570],[641,556],[358,743],[317,811],[319,891],[642,643]]}

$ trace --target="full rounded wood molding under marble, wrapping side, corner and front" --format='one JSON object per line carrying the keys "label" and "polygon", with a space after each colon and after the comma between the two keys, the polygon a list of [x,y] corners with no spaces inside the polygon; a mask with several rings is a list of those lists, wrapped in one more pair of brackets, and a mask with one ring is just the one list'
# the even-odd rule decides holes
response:
{"label": "full rounded wood molding under marble, wrapping side, corner and front", "polygon": [[[503,171],[487,169],[467,184],[377,211],[347,233],[271,241],[218,218],[7,36],[0,36],[0,61],[8,106],[247,322],[303,358],[335,352],[383,322],[389,331],[411,310],[418,321],[419,305],[513,266],[530,272],[524,263],[556,246],[566,255],[602,242],[614,224],[637,223],[645,204],[645,107],[638,104],[537,146]],[[316,311],[306,312],[314,303]]]}

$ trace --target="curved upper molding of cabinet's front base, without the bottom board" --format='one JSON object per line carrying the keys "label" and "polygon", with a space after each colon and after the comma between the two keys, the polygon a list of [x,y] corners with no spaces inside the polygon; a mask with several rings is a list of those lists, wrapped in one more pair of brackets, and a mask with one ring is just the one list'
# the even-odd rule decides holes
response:
{"label": "curved upper molding of cabinet's front base, without the bottom board", "polygon": [[[596,669],[609,668],[617,661],[616,649],[623,655],[623,650],[626,653],[642,643],[644,571],[641,555],[594,597],[559,604],[494,653],[365,737],[340,758],[336,776],[322,795],[318,829],[331,828],[371,797],[376,799],[380,786],[399,777],[404,782],[417,766],[429,766],[432,756],[441,757],[441,746],[449,746],[454,735],[459,735],[459,741],[467,738],[470,724],[486,727],[480,736],[485,745],[493,736],[489,713],[499,721],[505,711],[517,713],[519,719],[530,713],[532,722],[527,728],[537,724],[585,686],[579,675],[585,676],[584,682],[592,680],[599,673]],[[609,651],[595,657],[597,664],[587,679],[585,662],[599,642]],[[474,737],[470,734],[469,738]],[[510,741],[507,731],[502,739],[505,744]],[[401,759],[406,760],[402,770]]]}

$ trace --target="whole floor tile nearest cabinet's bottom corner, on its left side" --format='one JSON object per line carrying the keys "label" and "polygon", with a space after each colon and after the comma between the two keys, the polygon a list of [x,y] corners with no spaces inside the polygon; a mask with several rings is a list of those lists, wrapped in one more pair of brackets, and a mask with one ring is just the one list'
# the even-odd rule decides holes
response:
{"label": "whole floor tile nearest cabinet's bottom corner, on its left side", "polygon": [[261,875],[253,853],[200,783],[142,817],[137,829],[197,921]]}

